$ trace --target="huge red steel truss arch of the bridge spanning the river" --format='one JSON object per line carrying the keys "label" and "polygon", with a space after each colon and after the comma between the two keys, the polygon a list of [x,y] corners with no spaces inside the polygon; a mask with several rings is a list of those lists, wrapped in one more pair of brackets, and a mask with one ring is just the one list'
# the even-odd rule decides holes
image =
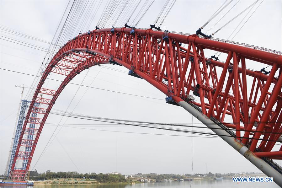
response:
{"label": "huge red steel truss arch of the bridge spanning the river", "polygon": [[[278,151],[274,147],[282,141],[282,56],[281,52],[254,48],[151,29],[102,29],[78,35],[61,47],[40,79],[23,124],[10,179],[26,179],[44,123],[67,83],[83,70],[104,63],[132,70],[176,103],[187,102],[206,119],[235,129],[226,130],[234,142],[247,146],[249,152],[281,174],[281,168],[270,159],[282,159],[282,147]],[[226,53],[227,58],[224,62],[212,60],[205,56],[206,50]],[[247,69],[246,60],[261,67],[269,65],[269,75]],[[45,89],[44,82],[51,72],[65,76],[56,90]],[[35,103],[40,107],[33,107]],[[31,112],[42,117],[31,118]],[[232,122],[226,122],[226,117]],[[31,151],[26,152],[30,122],[36,124],[35,137],[29,141]],[[263,140],[258,142],[258,138]],[[28,160],[25,169],[16,168],[20,160]]]}

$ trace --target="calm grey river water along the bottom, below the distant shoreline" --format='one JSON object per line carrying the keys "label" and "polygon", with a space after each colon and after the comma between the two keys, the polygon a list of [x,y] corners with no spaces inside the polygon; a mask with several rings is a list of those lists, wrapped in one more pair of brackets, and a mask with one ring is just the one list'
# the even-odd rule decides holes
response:
{"label": "calm grey river water along the bottom, below the distant shoreline", "polygon": [[0,186],[5,188],[187,188],[190,187],[279,187],[275,183],[234,183],[232,179],[226,180],[193,180],[154,182],[137,184],[104,184],[104,185],[34,185],[34,186]]}

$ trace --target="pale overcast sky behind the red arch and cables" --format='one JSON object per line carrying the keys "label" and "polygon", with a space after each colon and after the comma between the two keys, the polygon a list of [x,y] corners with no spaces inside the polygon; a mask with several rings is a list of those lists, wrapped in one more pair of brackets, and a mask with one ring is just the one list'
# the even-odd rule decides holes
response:
{"label": "pale overcast sky behind the red arch and cables", "polygon": [[[202,26],[224,1],[177,1],[162,24],[168,30],[194,33]],[[232,19],[254,1],[239,2],[215,27],[214,32]],[[1,1],[1,27],[9,27],[23,33],[51,42],[58,22],[67,4],[67,1]],[[93,30],[100,18],[103,2],[89,30]],[[237,1],[232,2],[234,5]],[[258,2],[260,3],[260,1]],[[98,2],[97,2],[98,4]],[[159,13],[164,1],[155,1],[141,20],[138,27],[149,27]],[[93,6],[96,6],[96,4]],[[231,8],[231,6],[229,7]],[[228,10],[227,8],[226,10]],[[93,9],[91,11],[93,11]],[[206,26],[207,31],[223,14],[221,13],[214,22]],[[226,39],[236,28],[244,14],[226,26],[215,37]],[[120,25],[118,25],[120,26]],[[86,30],[85,30],[86,31]],[[83,32],[85,32],[83,31]],[[78,35],[80,30],[74,31]],[[73,35],[73,36],[75,36]],[[28,40],[19,36],[4,33],[1,36],[13,37],[48,48],[48,44]],[[281,51],[281,1],[264,1],[247,24],[242,28],[234,41],[262,46]],[[67,41],[65,41],[67,42]],[[45,56],[44,51],[39,51],[5,40],[1,40],[1,68],[18,72],[36,74]],[[206,54],[213,55],[213,54]],[[68,111],[85,115],[106,118],[128,119],[136,121],[152,121],[163,123],[191,123],[192,116],[181,107],[165,103],[165,95],[151,86],[146,81],[131,77],[124,67],[108,65],[121,72],[92,67],[83,84],[109,89],[130,94],[148,96],[158,99],[148,99],[125,94],[118,94],[97,89],[81,87],[72,101]],[[257,64],[248,64],[249,68],[260,70]],[[78,75],[72,83],[81,83],[87,71]],[[51,75],[54,79],[61,78]],[[34,77],[1,70],[1,164],[0,173],[3,174],[10,148],[10,142],[15,125],[16,114],[19,106],[21,89],[15,85],[30,87]],[[56,88],[59,83],[51,82],[48,85]],[[78,86],[67,85],[59,96],[53,109],[66,110]],[[25,90],[27,92],[27,89]],[[26,93],[25,93],[26,95]],[[43,132],[40,136],[31,169],[39,172],[51,171],[78,171],[86,172],[113,172],[122,174],[141,173],[191,173],[192,167],[192,138],[163,135],[146,135],[121,132],[104,132],[63,127],[50,147],[35,165],[52,132],[61,117],[50,114]],[[196,121],[196,118],[193,119]],[[61,123],[66,124],[99,124],[99,122],[82,121],[63,118]],[[71,126],[71,125],[70,125]],[[83,128],[142,132],[157,134],[180,134],[164,130],[153,130],[131,126],[87,126]],[[59,127],[60,128],[60,127]],[[200,129],[200,131],[203,131]],[[208,131],[208,130],[204,130]],[[73,162],[72,162],[73,161]],[[74,165],[74,164],[75,165]],[[281,164],[281,161],[279,161]],[[78,168],[77,168],[77,167]],[[226,142],[219,138],[194,138],[194,166],[193,173],[242,172],[259,170]]]}

